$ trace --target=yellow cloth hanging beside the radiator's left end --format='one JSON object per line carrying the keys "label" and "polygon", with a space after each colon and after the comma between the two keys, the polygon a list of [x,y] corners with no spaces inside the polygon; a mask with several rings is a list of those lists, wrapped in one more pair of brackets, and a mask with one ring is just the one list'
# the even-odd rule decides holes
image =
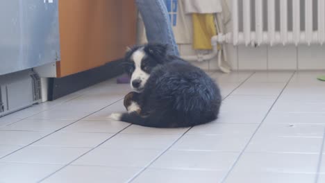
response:
{"label": "yellow cloth hanging beside the radiator's left end", "polygon": [[217,35],[213,14],[193,13],[192,21],[193,21],[193,48],[213,49],[211,45],[211,37]]}

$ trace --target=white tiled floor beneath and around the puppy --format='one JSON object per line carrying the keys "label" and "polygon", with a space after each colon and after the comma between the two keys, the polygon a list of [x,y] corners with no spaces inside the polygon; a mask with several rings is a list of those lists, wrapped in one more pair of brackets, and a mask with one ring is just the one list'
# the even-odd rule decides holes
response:
{"label": "white tiled floor beneath and around the puppy", "polygon": [[210,73],[220,117],[182,129],[110,121],[130,89],[102,82],[1,118],[0,182],[325,182],[319,74]]}

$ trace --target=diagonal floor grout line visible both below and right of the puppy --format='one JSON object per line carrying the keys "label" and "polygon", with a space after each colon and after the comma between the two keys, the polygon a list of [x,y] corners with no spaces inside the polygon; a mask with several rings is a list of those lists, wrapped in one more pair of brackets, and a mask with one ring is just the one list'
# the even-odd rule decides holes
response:
{"label": "diagonal floor grout line visible both below and right of the puppy", "polygon": [[[240,83],[240,85],[238,85],[238,87],[235,87],[235,89],[233,89],[227,96],[225,96],[224,98],[222,98],[222,101],[224,101],[228,96],[230,96],[236,89],[238,89],[241,85],[244,84],[244,82],[246,82],[247,80],[249,80],[249,78],[251,78],[251,76],[254,75],[253,72],[251,73],[250,76],[248,76],[244,81],[242,81],[242,83]],[[137,177],[139,177],[139,175],[141,175],[144,171],[147,170],[147,168],[149,168],[149,166],[151,166],[151,164],[153,164],[154,162],[156,162],[157,159],[159,159],[162,155],[164,155],[170,148],[172,148],[172,146],[174,146],[175,143],[177,143],[177,141],[179,139],[181,139],[188,131],[190,131],[193,127],[190,127],[188,130],[186,130],[183,134],[181,134],[181,137],[178,137],[178,139],[176,139],[169,147],[167,147],[165,150],[163,150],[163,153],[160,153],[156,158],[154,158],[151,162],[149,162],[149,164],[147,166],[145,166],[144,168],[142,168],[138,173],[136,173],[133,177],[131,177],[127,182],[132,182],[133,180],[135,180]]]}

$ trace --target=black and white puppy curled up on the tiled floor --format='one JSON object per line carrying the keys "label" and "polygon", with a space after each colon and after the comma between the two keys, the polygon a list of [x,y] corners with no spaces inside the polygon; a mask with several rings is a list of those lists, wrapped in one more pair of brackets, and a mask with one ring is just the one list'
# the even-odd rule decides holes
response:
{"label": "black and white puppy curled up on the tiled floor", "polygon": [[111,114],[110,119],[156,128],[189,127],[217,119],[222,97],[215,82],[198,67],[167,55],[167,46],[135,46],[126,53],[125,64],[131,87],[139,93],[138,103],[128,113]]}

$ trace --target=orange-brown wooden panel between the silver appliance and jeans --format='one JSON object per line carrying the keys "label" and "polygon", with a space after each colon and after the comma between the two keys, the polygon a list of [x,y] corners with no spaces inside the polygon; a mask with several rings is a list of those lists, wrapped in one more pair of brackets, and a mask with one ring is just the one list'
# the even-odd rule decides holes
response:
{"label": "orange-brown wooden panel between the silver appliance and jeans", "polygon": [[135,44],[136,9],[130,0],[59,1],[58,77],[122,58]]}

